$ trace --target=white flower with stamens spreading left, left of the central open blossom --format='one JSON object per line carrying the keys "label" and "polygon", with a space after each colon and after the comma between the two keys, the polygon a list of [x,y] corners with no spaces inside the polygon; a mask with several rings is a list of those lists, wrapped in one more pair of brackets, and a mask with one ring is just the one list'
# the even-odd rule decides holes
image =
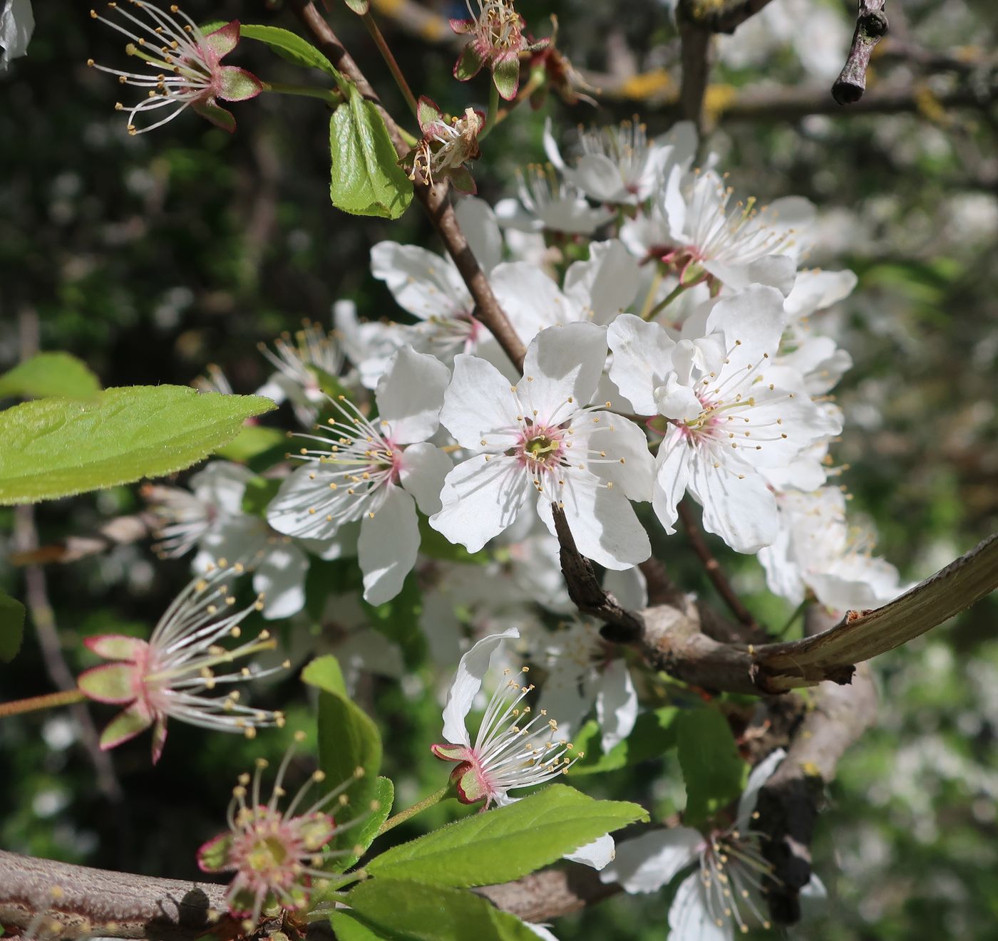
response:
{"label": "white flower with stamens spreading left, left of the central open blossom", "polygon": [[315,442],[302,448],[305,466],[280,485],[266,511],[278,532],[332,538],[345,523],[360,521],[357,551],[364,598],[380,604],[401,590],[416,561],[419,525],[440,507],[447,455],[428,444],[439,425],[449,374],[431,356],[405,347],[388,363],[374,395],[378,417],[369,421],[346,399]]}

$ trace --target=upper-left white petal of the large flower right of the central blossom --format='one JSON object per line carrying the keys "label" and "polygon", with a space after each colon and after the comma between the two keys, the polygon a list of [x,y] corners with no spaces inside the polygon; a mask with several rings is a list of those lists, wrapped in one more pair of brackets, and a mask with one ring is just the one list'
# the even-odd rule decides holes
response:
{"label": "upper-left white petal of the large flower right of the central blossom", "polygon": [[639,415],[657,415],[655,390],[673,368],[676,343],[656,323],[634,314],[621,314],[607,328],[607,343],[614,354],[610,378]]}

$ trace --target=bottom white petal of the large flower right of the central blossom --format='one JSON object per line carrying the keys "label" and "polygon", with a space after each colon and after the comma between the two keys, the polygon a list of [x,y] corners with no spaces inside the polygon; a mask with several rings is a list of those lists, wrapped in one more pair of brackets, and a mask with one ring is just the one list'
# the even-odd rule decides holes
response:
{"label": "bottom white petal of the large flower right of the central blossom", "polygon": [[[776,498],[762,476],[740,462],[715,467],[711,454],[697,455],[690,491],[704,507],[704,528],[736,552],[757,552],[776,538]],[[744,473],[744,476],[739,476]]]}

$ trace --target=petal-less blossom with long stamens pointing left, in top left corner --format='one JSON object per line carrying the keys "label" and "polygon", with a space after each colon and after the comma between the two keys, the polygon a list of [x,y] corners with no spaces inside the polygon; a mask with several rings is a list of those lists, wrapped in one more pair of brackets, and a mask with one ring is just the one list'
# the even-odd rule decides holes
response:
{"label": "petal-less blossom with long stamens pointing left, in top left corner", "polygon": [[[246,69],[222,65],[240,41],[239,20],[206,34],[176,4],[165,11],[146,0],[125,0],[109,3],[108,8],[126,25],[100,16],[96,10],[91,10],[90,15],[127,36],[131,41],[125,51],[151,70],[145,74],[123,72],[99,66],[93,59],[87,62],[102,72],[117,75],[122,85],[148,90],[147,97],[129,111],[129,134],[160,128],[187,108],[230,133],[236,130],[236,119],[219,105],[219,99],[244,102],[263,91],[263,83]],[[118,111],[125,107],[121,103],[115,106]],[[136,127],[137,115],[161,108],[173,110],[146,128]]]}

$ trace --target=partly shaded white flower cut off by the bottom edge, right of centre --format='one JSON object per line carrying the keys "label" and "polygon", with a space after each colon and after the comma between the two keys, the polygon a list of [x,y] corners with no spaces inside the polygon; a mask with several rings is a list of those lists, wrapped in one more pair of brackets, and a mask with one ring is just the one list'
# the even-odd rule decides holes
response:
{"label": "partly shaded white flower cut off by the bottom edge, right of centre", "polygon": [[[644,833],[618,845],[617,857],[600,878],[619,882],[631,893],[656,892],[697,864],[669,909],[670,938],[732,941],[751,925],[768,928],[761,896],[772,866],[759,851],[752,820],[758,791],[785,754],[777,749],[752,770],[733,826],[706,834],[688,826]],[[817,876],[811,876],[810,888],[811,894],[823,893]]]}

